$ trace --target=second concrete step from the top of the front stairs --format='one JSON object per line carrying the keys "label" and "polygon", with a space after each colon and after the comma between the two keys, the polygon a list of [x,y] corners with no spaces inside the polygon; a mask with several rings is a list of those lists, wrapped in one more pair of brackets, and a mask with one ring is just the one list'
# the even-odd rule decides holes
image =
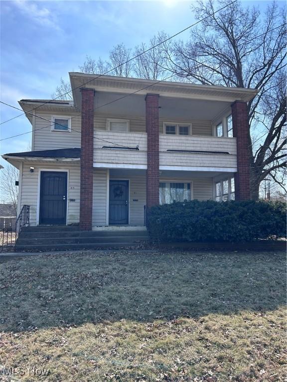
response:
{"label": "second concrete step from the top of the front stairs", "polygon": [[70,231],[63,230],[57,232],[43,232],[43,231],[22,231],[20,237],[25,239],[40,239],[40,238],[58,238],[58,237],[143,237],[147,238],[146,231]]}

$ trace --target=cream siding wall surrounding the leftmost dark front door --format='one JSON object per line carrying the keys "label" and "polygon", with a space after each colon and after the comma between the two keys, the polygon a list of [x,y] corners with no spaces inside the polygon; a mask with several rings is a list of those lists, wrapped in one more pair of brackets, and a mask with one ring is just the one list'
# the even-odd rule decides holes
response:
{"label": "cream siding wall surrounding the leftmost dark front door", "polygon": [[[34,172],[30,173],[30,167]],[[79,164],[47,164],[47,163],[24,163],[21,186],[21,208],[24,204],[30,205],[30,224],[36,225],[39,169],[46,170],[69,170],[68,174],[68,197],[67,197],[67,223],[78,223],[80,214],[80,165]],[[69,201],[75,199],[75,201]]]}

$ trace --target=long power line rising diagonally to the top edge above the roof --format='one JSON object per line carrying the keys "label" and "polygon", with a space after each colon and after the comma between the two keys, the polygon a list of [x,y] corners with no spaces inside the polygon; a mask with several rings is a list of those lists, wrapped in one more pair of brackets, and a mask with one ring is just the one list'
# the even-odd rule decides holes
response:
{"label": "long power line rising diagonally to the top edge above the roof", "polygon": [[[236,2],[236,1],[237,1],[237,0],[234,0],[234,1],[230,2],[229,4],[223,6],[222,8],[217,9],[215,12],[213,12],[213,14],[215,14],[215,13],[217,13],[217,12],[223,10],[224,8],[230,6],[231,4],[233,4],[233,3]],[[173,34],[172,36],[166,38],[165,40],[160,41],[159,43],[157,43],[157,44],[151,46],[150,48],[148,48],[148,49],[146,49],[146,50],[144,50],[142,53],[139,53],[139,54],[137,54],[136,56],[130,58],[130,59],[127,60],[126,62],[123,62],[122,64],[120,64],[120,65],[118,65],[118,66],[116,66],[116,67],[114,67],[114,68],[108,70],[107,72],[98,75],[96,78],[93,78],[93,79],[91,79],[91,80],[89,80],[89,81],[87,81],[87,82],[81,84],[80,86],[77,86],[76,88],[73,88],[73,89],[69,90],[68,92],[66,92],[66,93],[64,93],[64,94],[61,94],[61,95],[59,95],[59,96],[56,97],[56,98],[50,99],[50,100],[48,100],[48,101],[46,101],[46,102],[43,102],[42,104],[40,104],[40,105],[38,105],[38,106],[36,106],[36,107],[33,107],[31,110],[29,110],[29,112],[30,112],[30,111],[33,111],[33,110],[36,110],[38,107],[44,106],[44,105],[47,104],[47,103],[51,103],[51,102],[55,101],[56,99],[58,99],[59,97],[61,97],[61,96],[63,96],[63,95],[67,95],[67,94],[73,92],[73,91],[76,90],[76,89],[82,88],[83,86],[89,84],[90,82],[92,82],[92,81],[94,81],[94,80],[97,80],[98,78],[100,78],[100,77],[102,77],[102,76],[107,75],[108,73],[112,72],[113,70],[116,70],[116,69],[121,68],[123,65],[128,64],[128,63],[131,62],[132,60],[134,60],[134,59],[136,59],[136,58],[142,56],[144,53],[147,53],[147,52],[149,52],[150,50],[152,50],[152,49],[158,47],[159,45],[164,44],[165,42],[171,40],[172,38],[178,36],[179,34],[185,32],[186,30],[188,30],[188,29],[190,29],[191,27],[193,27],[193,26],[199,24],[200,22],[206,20],[206,19],[209,18],[209,17],[210,17],[210,15],[208,15],[208,16],[206,16],[206,17],[204,17],[204,18],[202,18],[202,19],[200,19],[200,20],[198,20],[198,21],[196,21],[195,23],[193,23],[193,24],[187,26],[186,28],[184,28],[184,29],[180,30],[179,32]],[[24,114],[25,114],[25,113],[21,113],[21,114],[19,114],[19,115],[16,115],[16,116],[13,117],[13,118],[7,119],[6,121],[1,122],[0,125],[2,125],[3,123],[9,122],[9,121],[11,121],[12,119],[18,118],[18,117],[20,117],[21,115],[24,115]]]}

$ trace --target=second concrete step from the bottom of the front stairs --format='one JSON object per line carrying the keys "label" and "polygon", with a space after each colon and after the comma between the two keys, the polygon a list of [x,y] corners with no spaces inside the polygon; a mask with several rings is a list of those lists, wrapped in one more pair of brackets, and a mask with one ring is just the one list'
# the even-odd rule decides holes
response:
{"label": "second concrete step from the bottom of the front stairs", "polygon": [[49,245],[51,242],[53,245],[58,244],[88,244],[88,243],[138,243],[146,241],[146,237],[141,236],[115,236],[115,237],[107,237],[107,236],[88,236],[88,237],[40,237],[40,238],[27,238],[25,235],[21,235],[17,240],[17,246],[20,245]]}

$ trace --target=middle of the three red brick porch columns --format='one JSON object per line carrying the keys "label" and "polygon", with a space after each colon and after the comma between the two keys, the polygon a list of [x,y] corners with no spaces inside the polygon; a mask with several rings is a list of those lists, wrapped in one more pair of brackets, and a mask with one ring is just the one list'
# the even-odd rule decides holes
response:
{"label": "middle of the three red brick porch columns", "polygon": [[158,94],[145,96],[147,133],[146,207],[159,204],[159,109]]}

